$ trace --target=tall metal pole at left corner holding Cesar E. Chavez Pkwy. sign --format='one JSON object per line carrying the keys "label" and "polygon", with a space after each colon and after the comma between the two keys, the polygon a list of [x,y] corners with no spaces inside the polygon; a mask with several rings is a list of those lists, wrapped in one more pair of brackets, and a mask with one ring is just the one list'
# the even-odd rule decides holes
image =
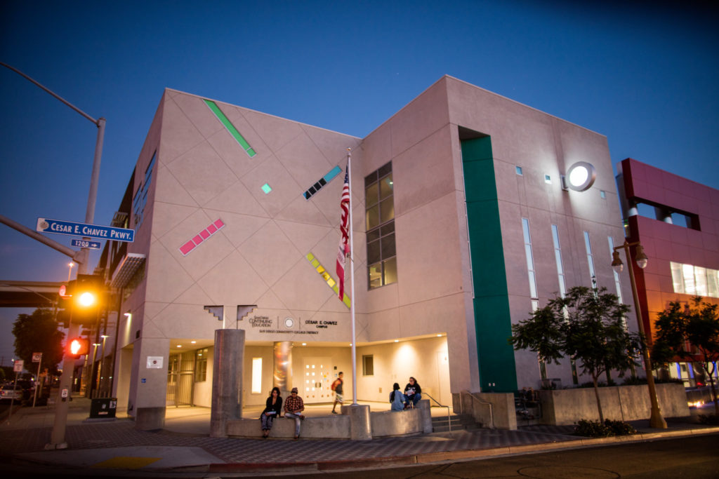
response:
{"label": "tall metal pole at left corner holding Cesar E. Chavez Pkwy. sign", "polygon": [[[88,193],[88,205],[85,212],[85,223],[93,223],[93,220],[95,218],[95,205],[97,200],[97,187],[99,183],[100,178],[100,162],[102,158],[102,145],[104,141],[105,136],[105,118],[98,118],[95,119],[92,116],[89,116],[87,113],[82,111],[80,108],[74,106],[69,101],[65,100],[65,98],[59,96],[57,93],[50,90],[50,88],[46,88],[44,85],[40,84],[33,78],[30,78],[29,76],[22,73],[20,70],[17,70],[17,68],[14,68],[10,65],[7,65],[4,62],[0,62],[0,66],[3,66],[9,70],[14,71],[18,75],[22,76],[26,80],[28,80],[30,83],[33,83],[37,87],[41,88],[42,90],[45,90],[45,92],[49,93],[50,95],[57,98],[62,103],[65,103],[66,106],[69,106],[72,108],[75,112],[79,113],[83,118],[86,118],[88,121],[91,121],[95,126],[97,126],[97,137],[95,141],[95,155],[93,157],[93,164],[92,164],[92,172],[90,176],[90,191]],[[87,238],[89,239],[89,238]],[[80,251],[80,254],[76,257],[73,257],[75,262],[78,264],[78,274],[86,274],[86,271],[88,270],[88,259],[90,256],[90,250],[88,248],[82,248]],[[72,315],[68,318],[68,338],[74,338],[78,335],[78,332],[80,332],[80,325],[79,324],[73,324],[72,322]],[[68,443],[65,441],[65,429],[68,424],[68,409],[70,407],[69,400],[70,400],[70,390],[72,387],[72,380],[73,380],[73,368],[75,367],[75,360],[73,358],[70,358],[69,355],[65,355],[65,358],[63,359],[63,375],[60,376],[60,392],[58,393],[58,402],[57,406],[55,406],[55,423],[52,426],[52,434],[50,435],[50,443],[45,445],[46,449],[65,449],[68,447]],[[64,392],[63,392],[64,391]],[[63,397],[65,396],[65,397]]]}

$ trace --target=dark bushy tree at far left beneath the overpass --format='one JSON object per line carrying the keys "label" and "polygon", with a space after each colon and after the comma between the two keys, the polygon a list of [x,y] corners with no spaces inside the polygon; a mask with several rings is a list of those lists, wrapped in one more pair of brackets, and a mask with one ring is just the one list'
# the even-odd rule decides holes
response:
{"label": "dark bushy tree at far left beneath the overpass", "polygon": [[25,361],[25,368],[32,371],[32,353],[42,353],[42,365],[50,373],[58,372],[58,363],[63,360],[63,338],[52,310],[38,308],[32,315],[17,315],[12,325],[15,336],[15,354]]}

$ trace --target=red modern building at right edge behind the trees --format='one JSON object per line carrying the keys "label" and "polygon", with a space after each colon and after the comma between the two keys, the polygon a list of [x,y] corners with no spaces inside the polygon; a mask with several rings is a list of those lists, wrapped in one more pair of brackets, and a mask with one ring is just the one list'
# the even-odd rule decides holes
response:
{"label": "red modern building at right edge behind the trees", "polygon": [[[719,304],[719,190],[631,158],[617,170],[627,241],[640,242],[650,258],[646,268],[634,268],[650,336],[669,302],[701,296]],[[707,381],[693,363],[676,363],[665,372],[687,387]]]}

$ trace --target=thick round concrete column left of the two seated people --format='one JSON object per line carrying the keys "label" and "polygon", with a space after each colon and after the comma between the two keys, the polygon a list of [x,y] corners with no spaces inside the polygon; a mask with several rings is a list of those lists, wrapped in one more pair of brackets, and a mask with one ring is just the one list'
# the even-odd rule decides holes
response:
{"label": "thick round concrete column left of the two seated people", "polygon": [[227,437],[227,422],[242,419],[244,330],[216,330],[210,437]]}

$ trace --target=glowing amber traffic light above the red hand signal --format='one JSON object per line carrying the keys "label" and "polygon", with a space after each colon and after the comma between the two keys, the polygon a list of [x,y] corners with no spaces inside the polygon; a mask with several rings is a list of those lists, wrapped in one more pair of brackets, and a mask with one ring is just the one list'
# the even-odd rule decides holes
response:
{"label": "glowing amber traffic light above the red hand signal", "polygon": [[[63,294],[64,293],[64,294]],[[94,325],[98,322],[104,306],[104,282],[102,276],[78,274],[77,279],[65,285],[60,292],[59,307],[65,310],[58,315],[58,321],[67,326],[71,320],[75,324]]]}

